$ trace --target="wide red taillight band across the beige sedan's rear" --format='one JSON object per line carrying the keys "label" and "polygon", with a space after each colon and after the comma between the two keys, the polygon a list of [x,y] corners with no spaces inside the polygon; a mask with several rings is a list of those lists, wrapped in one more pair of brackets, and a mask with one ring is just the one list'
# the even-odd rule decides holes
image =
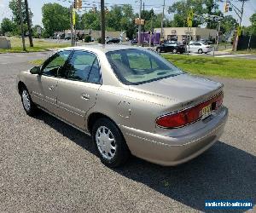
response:
{"label": "wide red taillight band across the beige sedan's rear", "polygon": [[211,110],[216,110],[222,105],[222,101],[223,93],[195,107],[160,116],[156,119],[156,124],[164,128],[177,128],[191,124],[202,117],[202,109],[204,107],[210,106]]}

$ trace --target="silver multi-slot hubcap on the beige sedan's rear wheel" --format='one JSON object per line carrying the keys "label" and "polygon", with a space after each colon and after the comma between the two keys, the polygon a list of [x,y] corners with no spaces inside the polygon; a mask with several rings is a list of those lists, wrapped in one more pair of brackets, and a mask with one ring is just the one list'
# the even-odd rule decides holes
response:
{"label": "silver multi-slot hubcap on the beige sedan's rear wheel", "polygon": [[96,144],[103,158],[112,159],[116,153],[116,142],[112,132],[106,126],[96,131]]}

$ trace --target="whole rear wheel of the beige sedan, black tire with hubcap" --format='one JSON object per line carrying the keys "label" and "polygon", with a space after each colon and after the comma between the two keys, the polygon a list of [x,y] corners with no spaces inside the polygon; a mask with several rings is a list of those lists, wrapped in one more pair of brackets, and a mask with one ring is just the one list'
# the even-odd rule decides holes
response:
{"label": "whole rear wheel of the beige sedan, black tire with hubcap", "polygon": [[115,168],[125,164],[129,148],[118,127],[108,118],[99,118],[92,128],[92,141],[102,163]]}

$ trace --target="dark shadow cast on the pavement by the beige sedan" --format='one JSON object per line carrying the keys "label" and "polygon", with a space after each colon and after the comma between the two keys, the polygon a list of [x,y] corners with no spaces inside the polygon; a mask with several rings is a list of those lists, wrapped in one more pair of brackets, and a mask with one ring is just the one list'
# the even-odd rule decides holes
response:
{"label": "dark shadow cast on the pavement by the beige sedan", "polygon": [[[95,153],[89,136],[45,112],[37,118]],[[222,141],[177,167],[162,167],[132,157],[114,171],[196,210],[205,211],[205,199],[253,199],[253,204],[256,200],[256,157]]]}

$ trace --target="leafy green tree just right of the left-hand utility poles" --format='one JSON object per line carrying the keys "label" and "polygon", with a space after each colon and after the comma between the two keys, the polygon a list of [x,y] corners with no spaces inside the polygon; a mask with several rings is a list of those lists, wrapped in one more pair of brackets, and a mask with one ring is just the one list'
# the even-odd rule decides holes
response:
{"label": "leafy green tree just right of the left-hand utility poles", "polygon": [[45,3],[43,8],[43,25],[45,34],[53,35],[54,32],[70,29],[69,9],[58,3]]}

